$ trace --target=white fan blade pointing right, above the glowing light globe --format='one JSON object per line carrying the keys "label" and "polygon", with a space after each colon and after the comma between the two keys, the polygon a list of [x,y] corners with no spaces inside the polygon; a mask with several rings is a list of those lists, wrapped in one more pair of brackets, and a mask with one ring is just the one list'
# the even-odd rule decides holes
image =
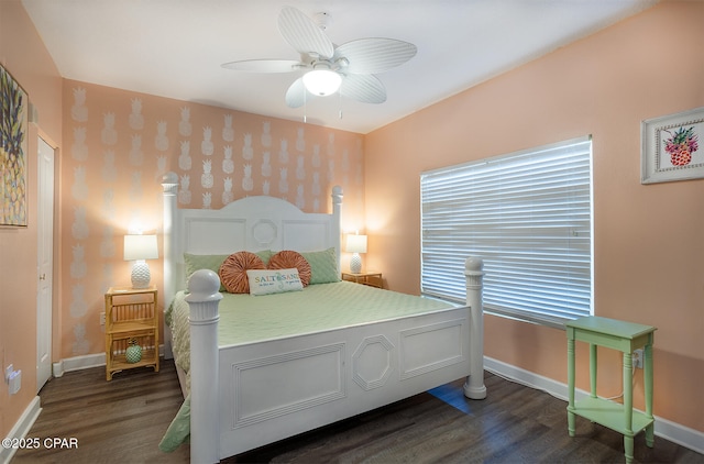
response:
{"label": "white fan blade pointing right, above the glowing light globe", "polygon": [[346,58],[345,70],[354,74],[377,74],[403,65],[414,56],[416,45],[395,38],[360,38],[340,45],[333,62]]}

